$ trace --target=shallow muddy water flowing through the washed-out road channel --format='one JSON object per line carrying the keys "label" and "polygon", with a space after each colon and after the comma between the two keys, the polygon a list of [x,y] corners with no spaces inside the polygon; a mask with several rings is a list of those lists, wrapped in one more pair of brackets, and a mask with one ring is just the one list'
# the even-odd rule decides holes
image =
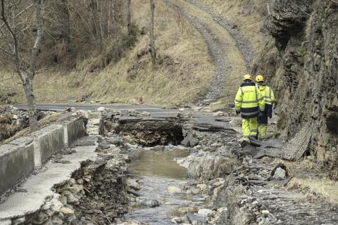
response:
{"label": "shallow muddy water flowing through the washed-out road channel", "polygon": [[143,150],[139,160],[130,165],[130,172],[139,179],[142,186],[138,191],[146,200],[158,200],[159,207],[136,205],[126,214],[127,221],[144,224],[172,224],[170,219],[178,216],[182,207],[208,207],[204,195],[170,193],[168,186],[181,188],[187,183],[187,169],[180,167],[175,158],[184,158],[189,155],[187,150]]}

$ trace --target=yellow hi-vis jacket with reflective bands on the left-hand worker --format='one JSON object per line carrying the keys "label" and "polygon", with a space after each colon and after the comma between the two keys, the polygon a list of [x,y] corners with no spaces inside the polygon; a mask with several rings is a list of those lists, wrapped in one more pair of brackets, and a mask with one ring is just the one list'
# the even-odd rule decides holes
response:
{"label": "yellow hi-vis jacket with reflective bands on the left-hand worker", "polygon": [[253,82],[244,82],[237,91],[234,105],[237,112],[245,119],[257,117],[259,111],[265,110],[265,99]]}

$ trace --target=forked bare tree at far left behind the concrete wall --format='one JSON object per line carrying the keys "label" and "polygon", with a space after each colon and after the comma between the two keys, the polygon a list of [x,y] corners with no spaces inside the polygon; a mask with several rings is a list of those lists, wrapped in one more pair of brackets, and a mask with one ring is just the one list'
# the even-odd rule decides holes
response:
{"label": "forked bare tree at far left behind the concrete wall", "polygon": [[[20,1],[18,1],[20,3]],[[33,94],[33,79],[35,76],[35,69],[37,67],[37,56],[39,54],[40,46],[42,45],[42,0],[35,0],[32,4],[29,4],[23,10],[18,11],[16,15],[13,15],[11,10],[17,2],[12,3],[11,1],[1,0],[1,39],[4,41],[7,46],[6,49],[2,48],[1,51],[7,53],[15,64],[15,70],[20,77],[20,80],[23,84],[23,89],[25,91],[25,96],[28,103],[28,115],[30,118],[30,129],[35,131],[39,128],[37,123],[37,110],[35,108],[35,96]],[[23,58],[20,56],[20,43],[18,41],[18,36],[25,32],[27,27],[20,27],[18,24],[15,24],[15,18],[20,17],[25,11],[28,11],[32,6],[35,6],[35,19],[36,19],[36,32],[35,44],[30,53],[29,62],[26,63]],[[4,27],[4,29],[2,29]],[[20,27],[20,29],[18,29]]]}

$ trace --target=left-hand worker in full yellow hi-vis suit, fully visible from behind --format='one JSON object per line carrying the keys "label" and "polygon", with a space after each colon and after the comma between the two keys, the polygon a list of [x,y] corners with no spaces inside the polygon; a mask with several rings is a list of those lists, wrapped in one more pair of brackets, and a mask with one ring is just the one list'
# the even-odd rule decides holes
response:
{"label": "left-hand worker in full yellow hi-vis suit, fully visible from behind", "polygon": [[242,134],[244,139],[248,140],[249,136],[257,137],[257,118],[263,115],[265,99],[258,86],[252,82],[251,75],[245,75],[243,81],[237,91],[234,105],[236,114],[242,113]]}

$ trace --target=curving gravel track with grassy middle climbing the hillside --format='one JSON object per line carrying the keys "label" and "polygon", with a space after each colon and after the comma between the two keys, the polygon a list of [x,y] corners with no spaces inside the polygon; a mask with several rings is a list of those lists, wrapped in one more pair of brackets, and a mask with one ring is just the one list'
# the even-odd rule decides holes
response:
{"label": "curving gravel track with grassy middle climbing the hillside", "polygon": [[[215,79],[204,96],[204,103],[212,103],[220,97],[232,101],[242,75],[247,71],[247,60],[243,57],[236,39],[212,15],[184,1],[162,0],[176,11],[180,11],[196,27],[208,44],[215,65]],[[231,99],[231,100],[230,100]]]}

